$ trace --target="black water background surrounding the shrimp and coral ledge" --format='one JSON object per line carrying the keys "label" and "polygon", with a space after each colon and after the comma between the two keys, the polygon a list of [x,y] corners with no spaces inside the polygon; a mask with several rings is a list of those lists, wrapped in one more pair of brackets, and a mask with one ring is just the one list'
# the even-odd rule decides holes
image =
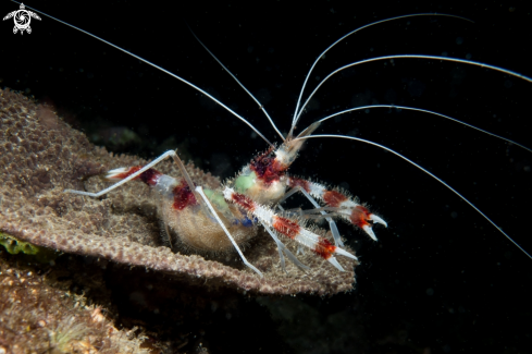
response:
{"label": "black water background surrounding the shrimp and coral ledge", "polygon": [[[318,84],[317,76],[323,78],[347,63],[400,53],[470,58],[532,76],[532,9],[524,1],[171,3],[27,4],[193,82],[276,142],[257,105],[186,24],[257,95],[283,132],[289,129],[300,86],[317,56],[344,34],[387,17],[438,12],[474,24],[421,16],[370,27],[329,52],[311,75],[310,87]],[[17,7],[2,1],[0,12],[3,16]],[[32,21],[30,35],[13,35],[12,27],[11,20],[0,27],[0,85],[54,105],[98,144],[127,129],[137,141],[109,143],[110,149],[154,157],[181,147],[185,157],[222,178],[233,176],[267,147],[190,87],[87,35],[44,16]],[[531,94],[532,83],[478,66],[380,61],[325,84],[316,96],[317,109],[304,115],[300,127],[349,107],[395,103],[448,114],[532,146]],[[319,132],[356,135],[407,156],[532,252],[531,152],[437,117],[387,109],[346,114]],[[317,333],[311,324],[293,318],[285,326],[286,318],[273,318],[288,343],[283,347],[316,353],[531,353],[532,259],[455,194],[392,154],[349,141],[309,142],[292,172],[348,188],[389,228],[375,228],[378,243],[342,228],[362,260],[356,290],[299,303],[316,310],[318,326],[337,329],[322,337],[309,334],[301,344],[290,341],[289,330]],[[360,326],[350,320],[343,325],[349,316]],[[261,324],[246,326],[255,326],[260,338]],[[235,334],[226,340],[247,339]],[[258,350],[253,342],[242,347]],[[238,351],[246,351],[242,347]]]}

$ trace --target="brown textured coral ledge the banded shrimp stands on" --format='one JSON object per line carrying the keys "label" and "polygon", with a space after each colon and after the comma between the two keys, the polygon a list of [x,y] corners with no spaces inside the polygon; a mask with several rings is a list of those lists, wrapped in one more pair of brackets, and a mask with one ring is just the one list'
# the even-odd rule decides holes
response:
{"label": "brown textured coral ledge the banded shrimp stands on", "polygon": [[[213,290],[226,286],[251,293],[331,295],[352,289],[356,264],[351,260],[341,257],[349,271],[338,272],[320,257],[307,254],[300,259],[310,271],[304,273],[288,265],[286,274],[279,265],[274,243],[262,233],[250,242],[245,255],[264,272],[264,279],[244,267],[236,253],[218,258],[184,255],[185,249],[173,253],[161,232],[158,200],[139,182],[101,199],[62,192],[102,190],[109,183],[101,182],[98,174],[145,163],[137,157],[113,156],[91,145],[50,107],[9,89],[0,90],[0,231],[65,253],[165,271]],[[158,169],[178,175],[170,162]],[[194,166],[187,169],[198,184],[220,184],[210,173]],[[294,245],[289,247],[295,252]]]}

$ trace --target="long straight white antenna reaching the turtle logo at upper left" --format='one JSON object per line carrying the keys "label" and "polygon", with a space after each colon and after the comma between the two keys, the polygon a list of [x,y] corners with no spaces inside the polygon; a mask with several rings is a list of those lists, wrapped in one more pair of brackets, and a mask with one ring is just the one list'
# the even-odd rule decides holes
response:
{"label": "long straight white antenna reaching the turtle logo at upper left", "polygon": [[[20,2],[17,2],[17,1],[14,1],[14,0],[11,0],[11,1],[20,4]],[[201,94],[206,95],[207,97],[209,97],[211,100],[213,100],[214,102],[216,102],[216,103],[218,103],[218,105],[220,105],[221,107],[225,108],[225,110],[226,110],[226,111],[228,111],[230,113],[232,113],[233,115],[235,115],[236,118],[238,118],[240,121],[243,121],[244,123],[246,123],[246,124],[247,124],[247,125],[248,125],[248,126],[249,126],[249,127],[250,127],[250,129],[251,129],[251,130],[252,130],[255,133],[257,133],[257,135],[259,135],[260,137],[262,137],[262,139],[263,139],[264,142],[267,142],[267,143],[268,143],[270,146],[272,146],[272,147],[273,147],[273,144],[272,144],[272,143],[270,143],[270,141],[269,141],[269,139],[268,139],[268,138],[264,136],[264,135],[262,135],[262,133],[261,133],[261,132],[259,132],[259,130],[258,130],[258,129],[256,129],[256,127],[255,127],[255,126],[253,126],[251,123],[249,123],[249,122],[248,122],[248,121],[247,121],[245,118],[240,117],[238,113],[236,113],[235,111],[233,111],[231,108],[228,108],[227,106],[225,106],[224,103],[222,103],[220,100],[218,100],[216,98],[214,98],[214,97],[212,97],[211,95],[209,95],[209,94],[208,94],[206,90],[203,90],[203,89],[199,88],[198,86],[194,85],[193,83],[190,83],[190,82],[188,82],[188,81],[184,80],[184,78],[183,78],[183,77],[181,77],[181,76],[177,76],[176,74],[172,73],[171,71],[168,71],[168,70],[166,70],[166,69],[164,69],[164,68],[161,68],[161,66],[159,66],[159,65],[157,65],[157,64],[154,64],[154,63],[152,63],[152,62],[150,62],[150,61],[148,61],[148,60],[146,60],[146,59],[144,59],[144,58],[141,58],[141,57],[138,57],[137,54],[132,53],[131,51],[127,51],[127,50],[125,50],[125,49],[123,49],[123,48],[121,48],[121,47],[119,47],[119,46],[116,46],[116,45],[113,45],[113,44],[112,44],[112,42],[110,42],[110,41],[107,41],[106,39],[102,39],[102,38],[100,38],[100,37],[98,37],[98,36],[96,36],[96,35],[92,35],[91,33],[89,33],[89,32],[87,32],[87,30],[84,30],[84,29],[78,28],[78,27],[76,27],[76,26],[74,26],[74,25],[71,25],[71,24],[69,24],[69,23],[66,23],[66,22],[64,22],[64,21],[61,21],[61,20],[59,20],[59,19],[55,19],[55,17],[53,17],[53,16],[51,16],[51,15],[49,15],[49,14],[47,14],[47,13],[42,12],[42,11],[39,11],[39,10],[37,10],[37,9],[34,9],[34,8],[32,8],[32,7],[28,7],[28,5],[25,5],[25,7],[26,7],[26,8],[28,8],[28,9],[32,9],[32,10],[33,10],[33,11],[35,11],[35,12],[40,13],[40,14],[41,14],[41,15],[44,15],[44,16],[47,16],[47,17],[49,17],[49,19],[51,19],[51,20],[54,20],[54,21],[57,21],[57,22],[59,22],[59,23],[62,23],[63,25],[66,25],[66,26],[71,27],[71,28],[74,28],[74,29],[76,29],[76,30],[79,30],[79,32],[82,32],[82,33],[84,33],[84,34],[86,34],[86,35],[89,35],[90,37],[92,37],[92,38],[95,38],[95,39],[98,39],[98,40],[100,40],[100,41],[104,42],[106,45],[109,45],[109,46],[111,46],[111,47],[113,47],[113,48],[115,48],[115,49],[117,49],[117,50],[120,50],[120,51],[122,51],[122,52],[124,52],[124,53],[126,53],[126,54],[128,54],[128,56],[131,56],[131,57],[135,58],[135,59],[138,59],[138,60],[140,60],[141,62],[144,62],[144,63],[146,63],[146,64],[148,64],[148,65],[150,65],[150,66],[153,66],[154,69],[157,69],[157,70],[159,70],[159,71],[162,71],[163,73],[169,74],[170,76],[172,76],[172,77],[174,77],[174,78],[177,78],[177,80],[178,80],[178,81],[181,81],[182,83],[187,84],[188,86],[193,87],[194,89],[196,89],[196,90],[200,91]]]}

